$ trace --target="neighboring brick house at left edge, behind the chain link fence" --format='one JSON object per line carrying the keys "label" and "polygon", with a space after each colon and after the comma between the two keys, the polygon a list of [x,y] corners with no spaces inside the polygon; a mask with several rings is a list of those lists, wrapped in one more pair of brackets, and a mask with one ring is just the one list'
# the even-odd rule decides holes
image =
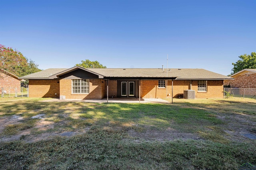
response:
{"label": "neighboring brick house at left edge, behind the chain link fence", "polygon": [[15,90],[20,91],[20,80],[18,76],[7,72],[5,70],[0,70],[0,91],[2,93],[2,89],[6,93],[15,93]]}

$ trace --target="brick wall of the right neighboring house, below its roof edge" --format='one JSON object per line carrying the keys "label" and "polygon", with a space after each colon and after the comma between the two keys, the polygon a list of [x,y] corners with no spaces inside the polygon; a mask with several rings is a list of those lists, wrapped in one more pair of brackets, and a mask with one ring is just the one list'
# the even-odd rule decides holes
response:
{"label": "brick wall of the right neighboring house, below its roof edge", "polygon": [[224,85],[230,85],[231,88],[256,88],[256,74],[242,74],[234,78],[225,80]]}

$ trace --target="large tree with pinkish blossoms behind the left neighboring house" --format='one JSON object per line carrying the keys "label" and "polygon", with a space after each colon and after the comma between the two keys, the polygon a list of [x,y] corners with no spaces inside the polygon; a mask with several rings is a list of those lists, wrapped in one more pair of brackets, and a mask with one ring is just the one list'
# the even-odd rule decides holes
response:
{"label": "large tree with pinkish blossoms behind the left neighboring house", "polygon": [[0,69],[18,77],[41,71],[34,61],[28,60],[20,51],[4,45],[0,45]]}

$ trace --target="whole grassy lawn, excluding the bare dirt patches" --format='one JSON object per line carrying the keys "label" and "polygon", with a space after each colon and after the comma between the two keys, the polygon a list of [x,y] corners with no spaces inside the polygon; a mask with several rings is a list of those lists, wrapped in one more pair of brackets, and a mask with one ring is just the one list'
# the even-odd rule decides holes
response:
{"label": "whole grassy lawn, excluding the bare dirt patches", "polygon": [[[238,169],[247,162],[254,166],[255,142],[225,141],[225,122],[216,117],[219,112],[236,114],[241,110],[254,115],[254,107],[250,102],[237,104],[226,100],[175,104],[1,102],[0,115],[20,115],[24,117],[22,123],[44,113],[60,129],[91,128],[88,133],[70,138],[0,143],[0,169]],[[208,140],[140,143],[129,140],[127,129],[143,131],[148,127],[200,133]]]}

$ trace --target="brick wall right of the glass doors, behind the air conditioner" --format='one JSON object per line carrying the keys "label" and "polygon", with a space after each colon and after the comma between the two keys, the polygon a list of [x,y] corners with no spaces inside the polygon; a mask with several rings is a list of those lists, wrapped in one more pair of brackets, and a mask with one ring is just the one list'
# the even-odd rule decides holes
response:
{"label": "brick wall right of the glass doors, behind the air conditioner", "polygon": [[[190,87],[189,80],[173,81],[173,96],[183,96],[184,90]],[[223,98],[223,80],[208,80],[207,92],[198,92],[197,80],[192,80],[192,89],[195,90],[196,98]],[[167,83],[167,98],[172,97],[172,81]],[[141,98],[166,98],[166,88],[158,88],[158,80],[141,80]],[[170,94],[170,95],[168,95]]]}

